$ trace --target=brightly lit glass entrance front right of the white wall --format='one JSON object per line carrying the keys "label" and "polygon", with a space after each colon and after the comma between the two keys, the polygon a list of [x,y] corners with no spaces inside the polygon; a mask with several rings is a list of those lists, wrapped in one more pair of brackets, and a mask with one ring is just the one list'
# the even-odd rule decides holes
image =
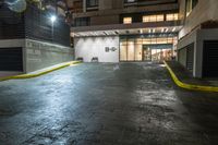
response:
{"label": "brightly lit glass entrance front right of the white wall", "polygon": [[120,39],[120,61],[162,61],[173,57],[177,37]]}

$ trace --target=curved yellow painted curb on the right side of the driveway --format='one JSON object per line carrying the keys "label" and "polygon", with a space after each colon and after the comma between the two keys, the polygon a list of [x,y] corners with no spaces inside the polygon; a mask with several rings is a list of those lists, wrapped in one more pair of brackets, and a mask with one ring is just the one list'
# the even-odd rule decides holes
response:
{"label": "curved yellow painted curb on the right side of the driveway", "polygon": [[172,80],[179,87],[190,89],[190,90],[217,92],[218,93],[218,87],[216,87],[216,86],[202,86],[202,85],[193,85],[193,84],[186,84],[186,83],[181,82],[177,77],[177,75],[174,74],[172,69],[168,65],[168,63],[166,61],[164,61],[164,63],[166,64],[167,70],[169,71]]}

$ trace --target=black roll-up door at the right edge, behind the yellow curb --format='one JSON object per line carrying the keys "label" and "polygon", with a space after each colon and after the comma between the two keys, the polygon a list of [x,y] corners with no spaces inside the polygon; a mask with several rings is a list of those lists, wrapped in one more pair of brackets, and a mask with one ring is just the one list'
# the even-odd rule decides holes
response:
{"label": "black roll-up door at the right edge, behind the yellow curb", "polygon": [[203,77],[218,77],[218,40],[204,41]]}

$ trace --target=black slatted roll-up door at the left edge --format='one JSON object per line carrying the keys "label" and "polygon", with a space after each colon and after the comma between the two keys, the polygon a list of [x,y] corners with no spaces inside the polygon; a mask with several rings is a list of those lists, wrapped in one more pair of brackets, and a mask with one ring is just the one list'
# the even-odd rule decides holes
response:
{"label": "black slatted roll-up door at the left edge", "polygon": [[22,48],[0,48],[0,71],[23,71]]}

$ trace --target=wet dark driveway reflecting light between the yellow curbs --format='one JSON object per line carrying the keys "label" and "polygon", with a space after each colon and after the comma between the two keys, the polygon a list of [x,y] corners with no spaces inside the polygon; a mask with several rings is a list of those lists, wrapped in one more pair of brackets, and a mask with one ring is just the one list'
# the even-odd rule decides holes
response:
{"label": "wet dark driveway reflecting light between the yellow curbs", "polygon": [[84,63],[0,82],[0,145],[216,145],[218,94],[161,64]]}

